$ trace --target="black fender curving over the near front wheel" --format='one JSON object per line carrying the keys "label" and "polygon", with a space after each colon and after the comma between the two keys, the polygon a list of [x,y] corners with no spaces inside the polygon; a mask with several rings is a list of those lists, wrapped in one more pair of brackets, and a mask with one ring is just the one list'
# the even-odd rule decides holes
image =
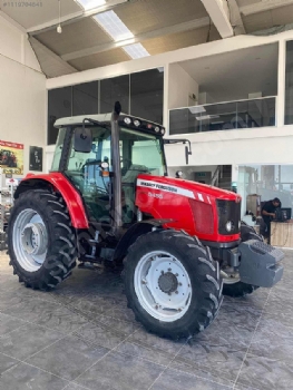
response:
{"label": "black fender curving over the near front wheel", "polygon": [[149,220],[143,221],[134,224],[128,231],[124,234],[119,241],[113,260],[123,260],[128,251],[128,247],[134,244],[134,242],[143,234],[152,232],[154,228],[164,228],[163,226],[167,223],[174,222],[173,220]]}

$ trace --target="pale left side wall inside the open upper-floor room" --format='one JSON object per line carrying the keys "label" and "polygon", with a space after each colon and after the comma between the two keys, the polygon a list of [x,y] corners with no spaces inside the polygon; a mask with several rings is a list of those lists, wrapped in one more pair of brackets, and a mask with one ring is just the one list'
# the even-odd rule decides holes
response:
{"label": "pale left side wall inside the open upper-floor room", "polygon": [[198,101],[198,84],[178,64],[172,64],[168,77],[168,108],[195,106],[197,103],[189,103],[189,94],[194,94]]}

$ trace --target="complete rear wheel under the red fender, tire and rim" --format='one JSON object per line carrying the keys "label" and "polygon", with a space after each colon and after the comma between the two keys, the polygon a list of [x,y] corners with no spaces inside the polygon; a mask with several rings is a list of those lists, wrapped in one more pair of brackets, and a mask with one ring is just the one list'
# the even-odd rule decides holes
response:
{"label": "complete rear wheel under the red fender, tire and rim", "polygon": [[76,236],[62,197],[48,191],[20,195],[8,224],[10,265],[32,289],[55,287],[76,265]]}

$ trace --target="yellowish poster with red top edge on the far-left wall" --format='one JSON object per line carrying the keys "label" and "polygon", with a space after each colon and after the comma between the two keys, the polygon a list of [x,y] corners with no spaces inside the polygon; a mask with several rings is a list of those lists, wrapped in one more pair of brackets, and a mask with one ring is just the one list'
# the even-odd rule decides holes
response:
{"label": "yellowish poster with red top edge on the far-left wall", "polygon": [[0,140],[0,166],[4,174],[23,175],[23,144]]}

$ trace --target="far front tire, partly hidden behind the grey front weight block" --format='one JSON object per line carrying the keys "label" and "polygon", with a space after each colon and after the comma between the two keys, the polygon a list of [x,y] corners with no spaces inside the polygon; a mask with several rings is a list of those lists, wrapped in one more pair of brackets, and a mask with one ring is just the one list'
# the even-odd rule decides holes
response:
{"label": "far front tire, partly hidden behind the grey front weight block", "polygon": [[[264,241],[262,235],[257,234],[252,226],[246,225],[245,223],[241,224],[241,237],[243,242],[248,240],[257,240],[262,242]],[[224,279],[223,294],[227,296],[240,298],[253,293],[258,287],[258,285],[246,284],[243,282],[227,284],[225,283]]]}

